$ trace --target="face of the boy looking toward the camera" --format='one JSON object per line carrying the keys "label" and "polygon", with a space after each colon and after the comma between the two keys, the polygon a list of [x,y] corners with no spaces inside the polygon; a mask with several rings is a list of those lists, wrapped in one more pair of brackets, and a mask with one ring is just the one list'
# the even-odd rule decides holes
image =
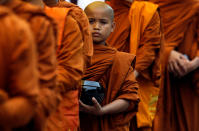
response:
{"label": "face of the boy looking toward the camera", "polygon": [[94,44],[104,44],[114,29],[114,22],[111,20],[109,11],[104,8],[90,9],[87,13],[90,23],[90,31]]}

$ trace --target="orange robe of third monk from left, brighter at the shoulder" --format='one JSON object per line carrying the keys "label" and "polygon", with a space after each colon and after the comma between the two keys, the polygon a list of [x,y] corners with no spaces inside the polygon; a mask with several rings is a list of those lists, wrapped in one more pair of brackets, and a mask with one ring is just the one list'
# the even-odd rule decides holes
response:
{"label": "orange robe of third monk from left, brighter at the shoulder", "polygon": [[59,26],[57,51],[59,92],[63,100],[48,120],[46,131],[74,131],[79,127],[79,89],[84,69],[83,39],[69,9],[45,7]]}

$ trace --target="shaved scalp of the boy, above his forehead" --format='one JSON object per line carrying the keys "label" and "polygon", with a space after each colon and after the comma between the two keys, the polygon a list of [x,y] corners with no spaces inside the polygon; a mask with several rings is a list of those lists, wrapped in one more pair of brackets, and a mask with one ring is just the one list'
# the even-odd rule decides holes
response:
{"label": "shaved scalp of the boy, above his forehead", "polygon": [[95,2],[93,2],[91,4],[89,4],[85,8],[84,11],[85,11],[86,14],[89,14],[92,10],[94,10],[96,8],[104,9],[107,12],[107,14],[110,16],[111,21],[114,20],[114,11],[113,11],[113,9],[108,4],[106,4],[105,2],[102,2],[102,1],[95,1]]}

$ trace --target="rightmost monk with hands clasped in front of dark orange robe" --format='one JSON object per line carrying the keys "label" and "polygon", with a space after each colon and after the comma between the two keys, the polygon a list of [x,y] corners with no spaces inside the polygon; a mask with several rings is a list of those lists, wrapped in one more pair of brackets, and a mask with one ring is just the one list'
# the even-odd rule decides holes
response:
{"label": "rightmost monk with hands clasped in front of dark orange robe", "polygon": [[198,131],[199,1],[150,1],[160,7],[166,50],[154,130]]}

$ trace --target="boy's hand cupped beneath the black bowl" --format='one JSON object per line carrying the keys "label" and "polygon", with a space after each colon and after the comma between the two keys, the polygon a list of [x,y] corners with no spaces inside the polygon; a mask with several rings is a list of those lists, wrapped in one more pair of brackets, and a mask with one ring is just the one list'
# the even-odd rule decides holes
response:
{"label": "boy's hand cupped beneath the black bowl", "polygon": [[103,113],[101,105],[97,102],[97,100],[94,97],[92,98],[92,101],[94,104],[93,106],[86,105],[82,101],[79,101],[80,111],[88,113],[88,114],[96,115],[96,116],[103,115],[104,113]]}

